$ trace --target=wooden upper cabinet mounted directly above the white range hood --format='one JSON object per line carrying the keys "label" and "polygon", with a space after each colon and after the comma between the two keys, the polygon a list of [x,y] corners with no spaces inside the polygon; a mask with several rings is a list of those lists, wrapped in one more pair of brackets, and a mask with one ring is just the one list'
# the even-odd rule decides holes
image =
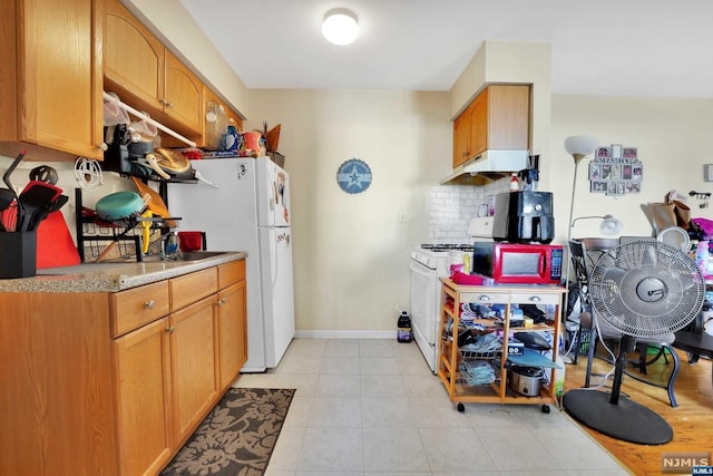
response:
{"label": "wooden upper cabinet mounted directly above the white range hood", "polygon": [[526,150],[530,144],[528,85],[490,85],[453,122],[453,168],[485,150]]}

